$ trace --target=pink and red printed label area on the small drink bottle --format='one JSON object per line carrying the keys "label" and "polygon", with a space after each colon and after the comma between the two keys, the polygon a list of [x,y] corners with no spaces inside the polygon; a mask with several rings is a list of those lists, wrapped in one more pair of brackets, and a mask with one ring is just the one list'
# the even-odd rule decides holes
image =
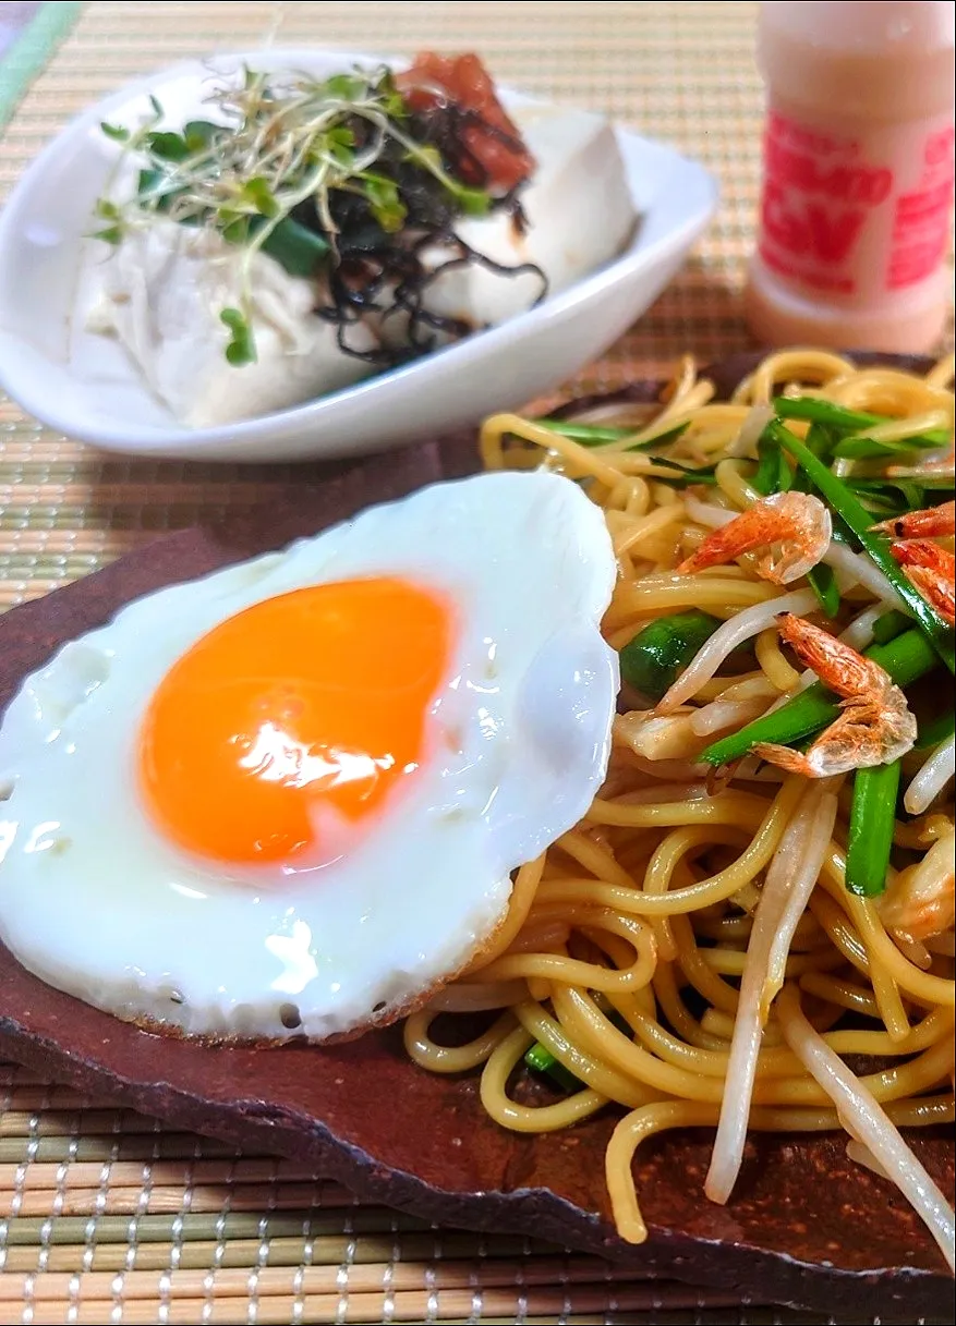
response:
{"label": "pink and red printed label area on the small drink bottle", "polygon": [[758,252],[800,293],[878,304],[939,269],[949,239],[953,117],[853,137],[772,110]]}

